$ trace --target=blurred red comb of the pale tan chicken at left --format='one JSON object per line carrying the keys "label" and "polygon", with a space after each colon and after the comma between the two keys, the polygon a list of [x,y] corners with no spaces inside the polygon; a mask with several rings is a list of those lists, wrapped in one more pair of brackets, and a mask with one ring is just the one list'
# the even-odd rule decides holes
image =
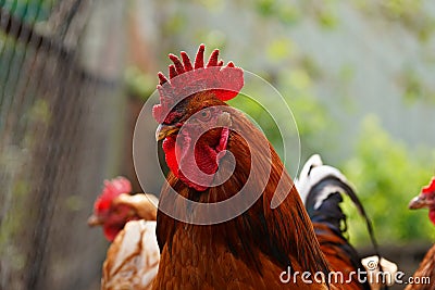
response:
{"label": "blurred red comb of the pale tan chicken at left", "polygon": [[132,184],[125,177],[119,176],[112,180],[104,180],[104,188],[96,200],[94,210],[97,212],[108,210],[114,198],[129,192],[132,192]]}

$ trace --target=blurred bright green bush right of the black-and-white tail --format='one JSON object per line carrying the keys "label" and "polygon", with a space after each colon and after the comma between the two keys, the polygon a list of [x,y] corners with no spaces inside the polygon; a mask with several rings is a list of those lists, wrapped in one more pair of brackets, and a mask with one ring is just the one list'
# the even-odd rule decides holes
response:
{"label": "blurred bright green bush right of the black-and-white tail", "polygon": [[[409,201],[435,174],[434,164],[435,151],[410,150],[388,136],[375,116],[364,119],[356,155],[345,162],[343,171],[356,186],[380,242],[405,243],[435,237],[427,211],[408,210]],[[352,207],[346,203],[350,239],[356,244],[368,243],[365,227]]]}

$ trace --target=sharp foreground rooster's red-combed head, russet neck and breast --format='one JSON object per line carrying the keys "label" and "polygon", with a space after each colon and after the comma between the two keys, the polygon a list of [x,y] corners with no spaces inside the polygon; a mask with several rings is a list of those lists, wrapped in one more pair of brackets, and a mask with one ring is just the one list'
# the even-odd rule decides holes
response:
{"label": "sharp foreground rooster's red-combed head, russet neck and breast", "polygon": [[[157,215],[153,289],[327,289],[296,275],[314,280],[330,266],[291,178],[264,135],[225,103],[244,86],[243,70],[224,66],[219,50],[204,65],[203,52],[201,45],[194,64],[185,52],[182,60],[170,54],[169,79],[159,73],[156,137],[170,173]],[[240,204],[247,210],[232,216]],[[281,279],[286,269],[289,282]]]}

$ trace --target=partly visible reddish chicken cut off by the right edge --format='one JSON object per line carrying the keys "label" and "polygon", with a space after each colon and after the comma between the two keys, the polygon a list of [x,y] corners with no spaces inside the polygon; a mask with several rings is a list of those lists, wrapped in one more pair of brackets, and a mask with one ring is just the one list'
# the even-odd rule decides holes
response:
{"label": "partly visible reddish chicken cut off by the right edge", "polygon": [[[428,219],[435,225],[435,177],[432,178],[431,184],[421,190],[421,193],[413,198],[409,203],[409,209],[428,209]],[[419,268],[413,275],[413,280],[422,281],[425,277],[430,278],[430,283],[410,283],[405,288],[406,290],[435,290],[435,245],[433,245],[420,263]]]}

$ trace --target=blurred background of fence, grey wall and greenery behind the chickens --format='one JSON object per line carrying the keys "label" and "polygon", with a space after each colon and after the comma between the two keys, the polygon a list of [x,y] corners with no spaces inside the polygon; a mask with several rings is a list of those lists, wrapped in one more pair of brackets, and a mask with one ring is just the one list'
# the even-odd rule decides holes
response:
{"label": "blurred background of fence, grey wall and greenery behind the chickens", "polygon": [[277,88],[301,162],[340,168],[382,252],[414,272],[435,240],[427,213],[407,209],[435,174],[434,1],[0,0],[0,289],[99,289],[94,200],[104,178],[136,180],[133,130],[156,74],[201,42]]}

